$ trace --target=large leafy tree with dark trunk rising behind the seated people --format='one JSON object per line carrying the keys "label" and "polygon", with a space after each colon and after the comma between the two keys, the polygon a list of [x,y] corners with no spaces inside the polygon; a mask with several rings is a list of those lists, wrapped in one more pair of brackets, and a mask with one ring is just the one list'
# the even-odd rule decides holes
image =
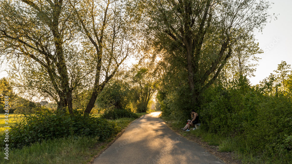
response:
{"label": "large leafy tree with dark trunk rising behind the seated people", "polygon": [[261,30],[270,17],[270,4],[258,0],[141,0],[136,4],[148,43],[172,56],[172,61],[184,59],[193,106],[218,77],[233,45]]}

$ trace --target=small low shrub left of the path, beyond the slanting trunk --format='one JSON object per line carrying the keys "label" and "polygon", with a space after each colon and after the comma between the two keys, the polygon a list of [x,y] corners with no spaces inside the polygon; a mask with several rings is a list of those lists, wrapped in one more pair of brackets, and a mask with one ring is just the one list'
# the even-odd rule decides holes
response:
{"label": "small low shrub left of the path, beyond the slanting trunk", "polygon": [[119,119],[119,118],[124,118],[124,117],[133,117],[133,118],[138,118],[138,115],[132,112],[130,109],[108,109],[106,110],[100,118],[104,119]]}

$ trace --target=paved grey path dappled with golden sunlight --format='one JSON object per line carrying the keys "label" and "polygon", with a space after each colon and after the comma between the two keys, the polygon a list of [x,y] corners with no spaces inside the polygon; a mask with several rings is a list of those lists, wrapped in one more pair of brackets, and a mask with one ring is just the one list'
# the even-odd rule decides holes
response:
{"label": "paved grey path dappled with golden sunlight", "polygon": [[199,144],[174,133],[159,114],[153,112],[135,120],[94,163],[224,163]]}

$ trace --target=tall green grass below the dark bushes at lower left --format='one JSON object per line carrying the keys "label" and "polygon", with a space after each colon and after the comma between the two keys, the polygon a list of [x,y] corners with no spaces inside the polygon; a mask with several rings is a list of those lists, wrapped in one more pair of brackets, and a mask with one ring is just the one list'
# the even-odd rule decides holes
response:
{"label": "tall green grass below the dark bushes at lower left", "polygon": [[[97,150],[92,149],[98,143],[96,137],[60,138],[34,143],[29,147],[9,152],[9,163],[84,163],[86,158]],[[4,154],[0,155],[1,160]],[[84,161],[85,160],[85,161]],[[6,162],[8,163],[8,162]]]}

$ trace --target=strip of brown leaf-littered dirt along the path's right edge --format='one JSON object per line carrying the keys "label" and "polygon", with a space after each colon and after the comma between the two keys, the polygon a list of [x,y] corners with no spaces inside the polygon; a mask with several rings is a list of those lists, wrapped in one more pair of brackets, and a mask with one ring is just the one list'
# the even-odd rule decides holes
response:
{"label": "strip of brown leaf-littered dirt along the path's right edge", "polygon": [[[180,134],[180,132],[182,130],[173,128],[171,126],[171,124],[169,124],[169,123],[166,123],[166,125],[169,128],[171,128],[178,135],[180,135],[182,137],[185,137],[189,141],[193,141],[193,142],[198,143],[199,145],[201,145],[201,147],[203,147],[204,149],[207,149],[208,152],[210,152],[211,154],[217,156],[218,158],[220,158],[225,163],[228,163],[228,164],[241,164],[242,163],[241,160],[236,159],[236,154],[234,154],[234,152],[221,152],[221,151],[218,151],[218,146],[208,145],[208,142],[202,141],[201,138],[199,138],[199,137],[194,137],[194,136],[191,136],[191,135],[183,136],[183,135]],[[185,132],[185,133],[187,133],[187,132]]]}

